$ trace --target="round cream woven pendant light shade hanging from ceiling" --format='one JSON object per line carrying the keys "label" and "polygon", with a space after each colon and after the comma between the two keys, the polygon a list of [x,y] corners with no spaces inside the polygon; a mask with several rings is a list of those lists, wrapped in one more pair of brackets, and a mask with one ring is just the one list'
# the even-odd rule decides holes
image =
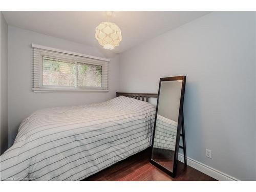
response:
{"label": "round cream woven pendant light shade hanging from ceiling", "polygon": [[95,38],[104,49],[114,49],[122,40],[121,29],[114,23],[102,22],[95,31]]}

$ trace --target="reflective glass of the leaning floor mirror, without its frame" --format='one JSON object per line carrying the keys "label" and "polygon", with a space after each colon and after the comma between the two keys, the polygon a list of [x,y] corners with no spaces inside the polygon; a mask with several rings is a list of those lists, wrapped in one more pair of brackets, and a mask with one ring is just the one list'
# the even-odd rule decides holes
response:
{"label": "reflective glass of the leaning floor mirror, without its frame", "polygon": [[173,172],[182,80],[161,81],[152,159]]}

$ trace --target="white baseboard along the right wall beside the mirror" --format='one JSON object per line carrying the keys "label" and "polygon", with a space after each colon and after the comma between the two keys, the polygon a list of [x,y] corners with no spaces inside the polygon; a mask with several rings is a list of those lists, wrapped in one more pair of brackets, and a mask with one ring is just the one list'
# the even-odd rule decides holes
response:
{"label": "white baseboard along the right wall beside the mirror", "polygon": [[[184,156],[182,154],[179,154],[178,156],[178,160],[184,163]],[[187,165],[189,165],[190,167],[193,167],[197,170],[199,170],[200,172],[215,178],[219,181],[239,181],[239,179],[231,177],[227,174],[224,174],[222,172],[220,172],[219,170],[216,170],[215,168],[212,168],[208,165],[205,165],[203,163],[200,163],[194,159],[191,159],[189,157],[187,157]]]}

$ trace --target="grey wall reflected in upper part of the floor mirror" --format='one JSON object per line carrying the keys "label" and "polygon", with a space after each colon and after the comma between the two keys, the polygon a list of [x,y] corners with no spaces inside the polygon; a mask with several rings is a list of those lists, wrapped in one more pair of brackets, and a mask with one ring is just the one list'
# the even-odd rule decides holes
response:
{"label": "grey wall reflected in upper part of the floor mirror", "polygon": [[162,81],[158,114],[178,122],[182,82]]}

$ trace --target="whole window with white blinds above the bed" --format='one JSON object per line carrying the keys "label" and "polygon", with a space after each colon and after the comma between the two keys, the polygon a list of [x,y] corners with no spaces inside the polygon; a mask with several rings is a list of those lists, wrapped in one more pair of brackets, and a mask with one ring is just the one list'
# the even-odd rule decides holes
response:
{"label": "whole window with white blinds above the bed", "polygon": [[108,91],[109,59],[32,47],[33,91]]}

